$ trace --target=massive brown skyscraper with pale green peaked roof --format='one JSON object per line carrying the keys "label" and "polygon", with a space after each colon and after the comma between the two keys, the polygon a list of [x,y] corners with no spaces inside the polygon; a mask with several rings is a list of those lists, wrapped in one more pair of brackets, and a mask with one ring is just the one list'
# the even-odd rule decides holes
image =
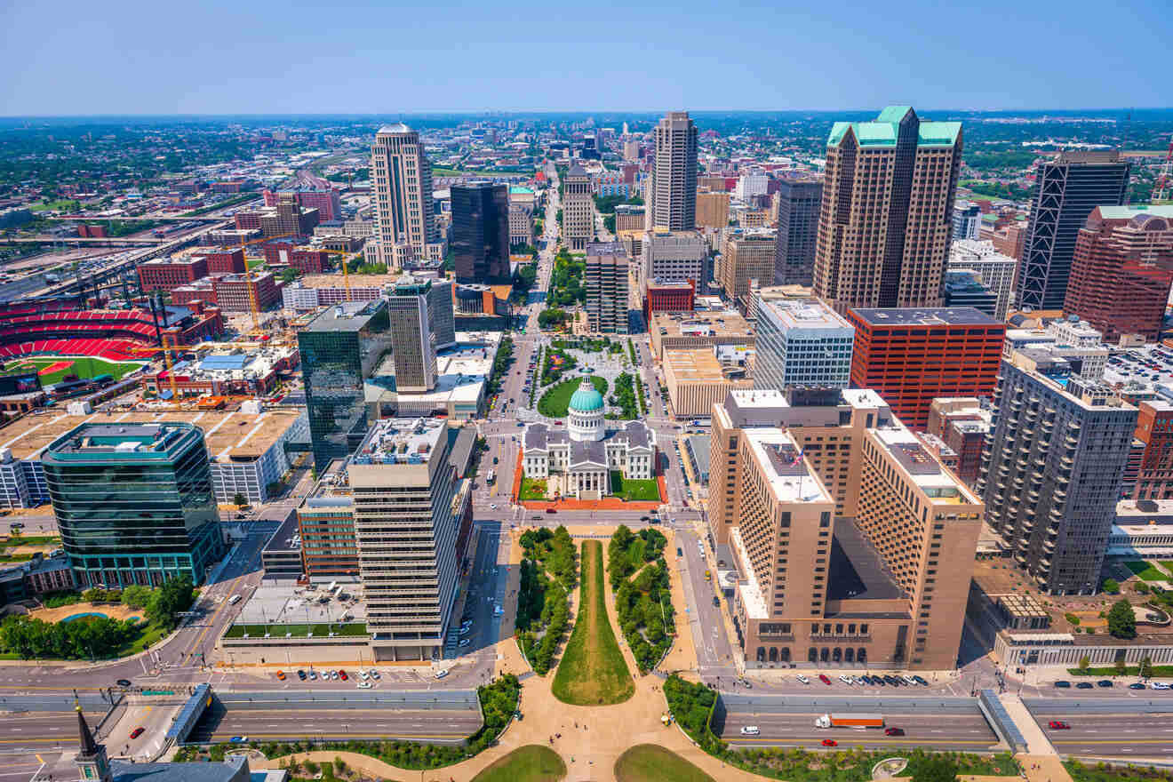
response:
{"label": "massive brown skyscraper with pale green peaked roof", "polygon": [[961,169],[960,122],[889,106],[827,140],[814,293],[852,307],[937,307]]}

